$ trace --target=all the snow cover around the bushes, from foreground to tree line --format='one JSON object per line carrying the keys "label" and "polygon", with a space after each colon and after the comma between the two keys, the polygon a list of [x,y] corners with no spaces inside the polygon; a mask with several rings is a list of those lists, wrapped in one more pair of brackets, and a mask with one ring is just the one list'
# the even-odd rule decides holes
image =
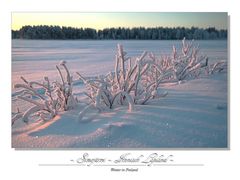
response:
{"label": "all the snow cover around the bushes, from foreground to tree line", "polygon": [[[55,65],[68,61],[72,73],[84,76],[106,74],[114,68],[116,44],[124,45],[131,56],[143,50],[169,54],[177,41],[25,41],[12,42],[12,83],[19,77],[41,80],[43,76],[58,78]],[[201,53],[209,61],[227,60],[226,41],[198,41]],[[219,73],[174,85],[161,85],[164,98],[146,105],[92,110],[85,121],[77,115],[85,106],[60,113],[48,122],[21,121],[12,127],[14,148],[227,148],[228,146],[228,83],[227,74]],[[76,84],[74,93],[80,101],[83,84]],[[16,95],[13,89],[12,96]],[[12,111],[29,105],[12,101]]]}

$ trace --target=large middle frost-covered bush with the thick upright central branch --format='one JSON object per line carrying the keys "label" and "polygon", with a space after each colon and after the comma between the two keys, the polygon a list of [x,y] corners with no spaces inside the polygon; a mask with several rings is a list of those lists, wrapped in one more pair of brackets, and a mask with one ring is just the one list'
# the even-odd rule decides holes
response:
{"label": "large middle frost-covered bush with the thick upright central branch", "polygon": [[134,104],[145,104],[150,99],[165,96],[158,93],[159,83],[144,80],[153,67],[161,73],[159,65],[147,59],[147,54],[143,52],[136,58],[127,57],[122,45],[118,45],[114,72],[88,80],[77,73],[86,85],[85,95],[90,99],[90,105],[80,112],[79,119],[92,107],[101,110],[128,104],[131,111]]}

